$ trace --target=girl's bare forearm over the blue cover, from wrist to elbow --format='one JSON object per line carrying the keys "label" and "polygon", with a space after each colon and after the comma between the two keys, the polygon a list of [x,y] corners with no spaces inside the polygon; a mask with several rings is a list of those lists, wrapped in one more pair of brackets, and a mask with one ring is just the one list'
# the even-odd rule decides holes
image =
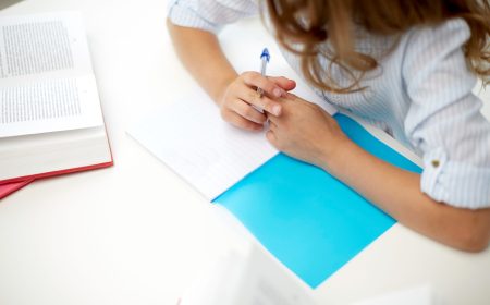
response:
{"label": "girl's bare forearm over the blue cover, from wrist to elbow", "polygon": [[490,236],[490,209],[469,210],[438,203],[421,193],[420,175],[376,158],[351,141],[322,167],[401,223],[441,243],[481,251]]}

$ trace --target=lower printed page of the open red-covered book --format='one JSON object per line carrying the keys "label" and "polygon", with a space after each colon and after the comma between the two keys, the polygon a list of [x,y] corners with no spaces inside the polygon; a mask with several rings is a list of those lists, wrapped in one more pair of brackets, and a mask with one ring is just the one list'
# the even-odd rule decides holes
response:
{"label": "lower printed page of the open red-covered book", "polygon": [[0,87],[0,137],[101,125],[93,76]]}

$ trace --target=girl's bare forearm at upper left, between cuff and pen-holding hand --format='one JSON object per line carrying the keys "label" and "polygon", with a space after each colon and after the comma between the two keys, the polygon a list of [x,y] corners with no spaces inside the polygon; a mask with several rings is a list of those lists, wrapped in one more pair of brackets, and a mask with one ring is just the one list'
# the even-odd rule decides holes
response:
{"label": "girl's bare forearm at upper left, between cuff and pen-holding hand", "polygon": [[222,52],[217,37],[206,30],[174,25],[170,20],[167,20],[167,26],[185,69],[218,103],[228,84],[237,74]]}

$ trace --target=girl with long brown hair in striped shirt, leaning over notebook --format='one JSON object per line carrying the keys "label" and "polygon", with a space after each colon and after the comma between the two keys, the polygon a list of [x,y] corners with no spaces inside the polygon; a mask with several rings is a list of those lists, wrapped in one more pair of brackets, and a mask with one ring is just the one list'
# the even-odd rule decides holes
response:
{"label": "girl with long brown hair in striped shirt, leaning over notebook", "polygon": [[[216,33],[262,13],[318,94],[424,159],[419,175],[351,142],[285,77],[241,75]],[[169,30],[187,70],[231,124],[348,184],[401,223],[469,252],[490,240],[490,123],[471,94],[490,76],[488,0],[173,0]],[[260,97],[256,88],[266,95]],[[265,109],[265,114],[255,107]]]}

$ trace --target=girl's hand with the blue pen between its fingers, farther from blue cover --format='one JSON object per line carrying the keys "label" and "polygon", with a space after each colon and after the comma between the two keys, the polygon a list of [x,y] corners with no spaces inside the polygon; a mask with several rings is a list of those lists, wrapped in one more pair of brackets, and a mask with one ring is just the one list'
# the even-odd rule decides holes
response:
{"label": "girl's hand with the blue pen between its fingers, farther from blue cover", "polygon": [[[262,97],[257,87],[264,90]],[[258,72],[244,72],[224,89],[220,101],[221,117],[224,121],[244,130],[260,131],[267,121],[266,113],[281,114],[281,102],[271,98],[284,97],[286,91],[296,87],[294,81],[285,77],[266,77]]]}

